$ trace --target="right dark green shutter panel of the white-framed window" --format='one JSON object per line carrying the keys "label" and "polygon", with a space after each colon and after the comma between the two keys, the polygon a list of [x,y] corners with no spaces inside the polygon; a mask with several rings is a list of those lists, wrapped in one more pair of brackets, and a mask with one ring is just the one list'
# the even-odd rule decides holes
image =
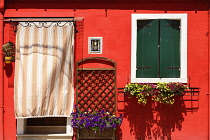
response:
{"label": "right dark green shutter panel of the white-framed window", "polygon": [[180,77],[180,21],[160,20],[160,78]]}

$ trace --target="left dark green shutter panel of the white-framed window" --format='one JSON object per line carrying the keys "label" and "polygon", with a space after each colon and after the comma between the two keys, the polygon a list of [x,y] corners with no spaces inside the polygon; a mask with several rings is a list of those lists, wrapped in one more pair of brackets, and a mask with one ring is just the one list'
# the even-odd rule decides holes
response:
{"label": "left dark green shutter panel of the white-framed window", "polygon": [[158,20],[137,21],[137,78],[158,77]]}

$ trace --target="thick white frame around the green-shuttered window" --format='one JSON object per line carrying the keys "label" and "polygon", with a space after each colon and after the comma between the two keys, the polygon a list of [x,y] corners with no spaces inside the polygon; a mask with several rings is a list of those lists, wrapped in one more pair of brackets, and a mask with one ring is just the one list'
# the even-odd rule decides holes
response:
{"label": "thick white frame around the green-shuttered window", "polygon": [[[158,83],[182,82],[187,83],[187,14],[132,14],[131,35],[131,82]],[[180,78],[136,78],[137,51],[137,20],[171,19],[180,20]]]}

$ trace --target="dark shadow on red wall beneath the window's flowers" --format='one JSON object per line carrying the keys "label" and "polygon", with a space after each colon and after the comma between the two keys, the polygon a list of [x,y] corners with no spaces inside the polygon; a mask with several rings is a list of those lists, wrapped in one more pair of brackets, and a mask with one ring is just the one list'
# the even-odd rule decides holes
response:
{"label": "dark shadow on red wall beneath the window's flowers", "polygon": [[137,140],[171,140],[171,133],[181,131],[186,110],[182,97],[177,97],[173,105],[137,103],[135,98],[126,98],[125,117],[130,125],[130,134]]}

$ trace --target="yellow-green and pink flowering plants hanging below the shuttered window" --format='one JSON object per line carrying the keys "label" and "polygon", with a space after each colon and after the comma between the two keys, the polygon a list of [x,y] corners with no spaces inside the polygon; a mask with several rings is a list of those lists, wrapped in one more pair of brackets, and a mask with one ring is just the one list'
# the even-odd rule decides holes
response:
{"label": "yellow-green and pink flowering plants hanging below the shuttered window", "polygon": [[152,100],[162,104],[174,104],[174,97],[183,96],[187,86],[183,83],[129,83],[125,86],[124,92],[130,93],[130,97],[135,96],[138,103],[146,104],[147,98],[151,96]]}

